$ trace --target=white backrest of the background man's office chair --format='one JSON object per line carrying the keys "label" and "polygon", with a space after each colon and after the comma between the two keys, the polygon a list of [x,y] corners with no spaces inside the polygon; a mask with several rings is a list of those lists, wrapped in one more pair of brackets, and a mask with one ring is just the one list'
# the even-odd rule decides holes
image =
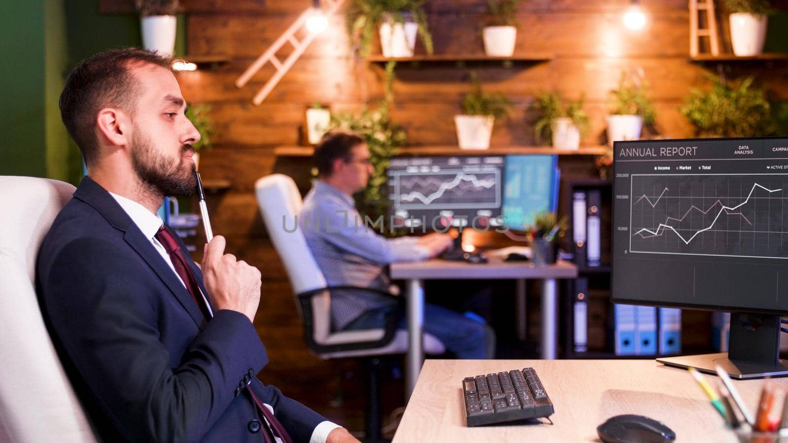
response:
{"label": "white backrest of the background man's office chair", "polygon": [[297,229],[296,214],[301,211],[303,201],[296,182],[284,174],[272,174],[255,183],[255,194],[262,220],[284,263],[293,290],[299,294],[325,288],[325,277],[314,261],[303,232]]}

